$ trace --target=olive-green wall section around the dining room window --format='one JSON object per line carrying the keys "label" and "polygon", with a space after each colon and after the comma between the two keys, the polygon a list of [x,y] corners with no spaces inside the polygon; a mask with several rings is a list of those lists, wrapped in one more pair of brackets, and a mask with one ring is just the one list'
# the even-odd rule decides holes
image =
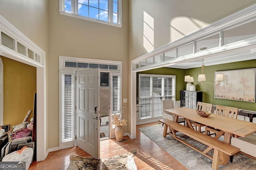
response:
{"label": "olive-green wall section around the dining room window", "polygon": [[138,87],[139,87],[139,74],[162,74],[162,75],[176,75],[176,100],[180,100],[180,90],[184,90],[186,84],[184,83],[185,70],[179,68],[156,68],[152,70],[146,70],[137,72],[137,97],[138,97]]}

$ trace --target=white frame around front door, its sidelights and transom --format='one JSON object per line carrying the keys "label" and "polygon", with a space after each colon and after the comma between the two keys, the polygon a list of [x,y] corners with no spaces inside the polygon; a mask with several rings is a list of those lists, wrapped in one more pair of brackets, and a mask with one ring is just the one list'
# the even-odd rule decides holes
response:
{"label": "white frame around front door, its sidelights and transom", "polygon": [[[120,108],[122,108],[122,61],[110,61],[110,60],[85,59],[85,58],[78,58],[78,57],[59,56],[59,120],[60,120],[60,122],[61,122],[61,74],[62,73],[70,73],[72,71],[74,72],[75,70],[90,69],[90,68],[75,68],[75,67],[74,68],[71,68],[71,67],[65,68],[65,61],[118,65],[118,70],[108,70],[108,69],[99,68],[99,71],[100,72],[110,72],[110,77],[111,77],[111,74],[112,75],[120,75],[120,87],[121,87],[120,88]],[[109,85],[112,86],[111,80],[110,80]],[[112,107],[111,104],[112,104],[112,101],[110,100],[110,107]],[[112,113],[111,109],[112,108],[110,108],[110,113]],[[120,111],[122,111],[122,109]],[[109,126],[109,137],[110,138],[114,137],[112,134],[112,126]],[[63,149],[64,149],[64,148],[68,148],[68,147],[73,147],[74,145],[75,145],[75,142],[73,144],[71,142],[67,142],[66,144],[61,142],[61,123],[59,123],[59,148],[63,147]]]}

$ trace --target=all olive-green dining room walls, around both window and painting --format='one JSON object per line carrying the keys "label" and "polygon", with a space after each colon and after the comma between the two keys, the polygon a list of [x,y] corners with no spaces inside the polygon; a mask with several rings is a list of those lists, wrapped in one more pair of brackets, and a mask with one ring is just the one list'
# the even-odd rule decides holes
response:
{"label": "all olive-green dining room walls, around both window and painting", "polygon": [[[206,76],[206,82],[214,83],[215,71],[237,70],[237,69],[244,69],[244,68],[256,68],[256,60],[205,66],[204,74]],[[176,75],[176,100],[180,100],[180,90],[185,90],[186,88],[186,82],[184,82],[184,76],[185,75],[194,76],[193,84],[196,84],[198,82],[197,81],[198,74],[201,74],[201,72],[202,72],[201,67],[190,68],[190,69],[163,67],[163,68],[156,68],[152,70],[137,72],[137,96],[138,96],[138,74]],[[204,83],[203,86],[201,85],[201,83],[196,84],[196,91],[203,92],[203,102],[211,103],[215,105],[218,104],[218,105],[224,105],[224,106],[238,107],[239,109],[256,111],[256,103],[214,98],[214,86],[212,84]]]}

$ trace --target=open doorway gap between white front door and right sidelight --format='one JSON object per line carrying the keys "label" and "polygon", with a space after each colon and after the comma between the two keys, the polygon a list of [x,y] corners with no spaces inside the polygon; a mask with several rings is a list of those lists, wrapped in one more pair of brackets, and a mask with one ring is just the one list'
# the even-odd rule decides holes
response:
{"label": "open doorway gap between white front door and right sidelight", "polygon": [[100,140],[109,139],[110,87],[109,72],[100,72]]}

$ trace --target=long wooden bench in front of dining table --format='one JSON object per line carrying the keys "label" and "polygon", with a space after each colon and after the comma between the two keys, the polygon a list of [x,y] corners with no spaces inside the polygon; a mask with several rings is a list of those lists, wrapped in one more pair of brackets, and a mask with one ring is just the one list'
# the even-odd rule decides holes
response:
{"label": "long wooden bench in front of dining table", "polygon": [[[180,125],[179,123],[176,123],[174,121],[171,121],[169,119],[161,119],[160,122],[164,123],[164,134],[163,137],[166,137],[166,135],[171,135],[176,140],[184,143],[188,147],[198,151],[199,153],[203,154],[204,156],[212,159],[212,168],[214,170],[218,169],[218,166],[221,164],[226,164],[226,156],[224,154],[228,154],[229,156],[237,153],[240,151],[239,148],[234,147],[232,145],[229,145],[228,143],[224,143],[223,141],[220,141],[218,139],[214,139],[213,137],[207,136],[203,133],[200,133],[198,131],[195,131],[193,129],[190,129],[189,127],[185,127],[183,125]],[[167,129],[170,129],[170,132],[167,132]],[[207,145],[208,148],[206,150],[200,150],[193,145],[187,143],[186,141],[183,141],[182,139],[176,137],[176,131],[183,133],[184,135],[187,135],[188,137],[191,137],[200,143],[203,143],[204,145]],[[214,149],[214,154],[211,156],[210,154],[207,154],[211,149]],[[224,153],[224,154],[223,154]]]}

